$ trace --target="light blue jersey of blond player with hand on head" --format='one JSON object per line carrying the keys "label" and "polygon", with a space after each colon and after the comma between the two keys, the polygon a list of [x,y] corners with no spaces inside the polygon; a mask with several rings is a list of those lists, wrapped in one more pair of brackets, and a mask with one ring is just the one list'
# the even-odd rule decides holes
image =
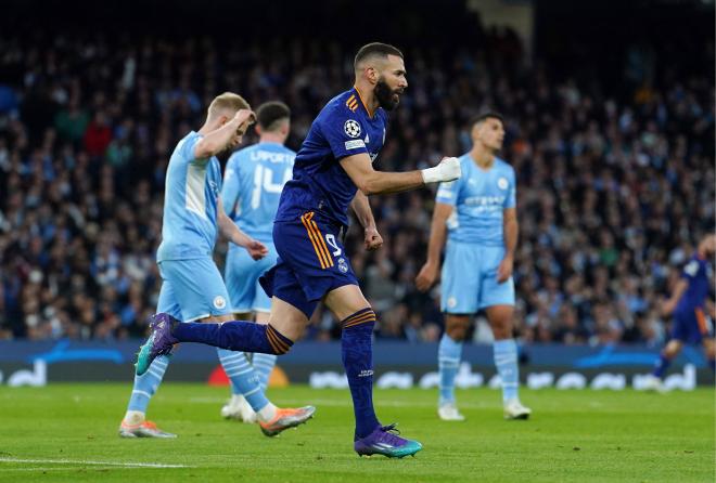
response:
{"label": "light blue jersey of blond player with hand on head", "polygon": [[158,262],[210,257],[214,251],[221,167],[216,157],[194,159],[200,139],[201,134],[190,132],[169,158]]}

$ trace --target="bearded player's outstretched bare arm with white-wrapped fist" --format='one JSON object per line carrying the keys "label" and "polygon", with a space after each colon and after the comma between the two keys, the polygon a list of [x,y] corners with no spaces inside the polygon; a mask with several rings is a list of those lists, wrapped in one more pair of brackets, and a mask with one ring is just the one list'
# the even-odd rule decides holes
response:
{"label": "bearded player's outstretched bare arm with white-wrapped fist", "polygon": [[458,158],[445,158],[434,168],[406,172],[375,171],[366,153],[341,159],[341,166],[366,196],[415,190],[427,183],[453,181],[460,178]]}

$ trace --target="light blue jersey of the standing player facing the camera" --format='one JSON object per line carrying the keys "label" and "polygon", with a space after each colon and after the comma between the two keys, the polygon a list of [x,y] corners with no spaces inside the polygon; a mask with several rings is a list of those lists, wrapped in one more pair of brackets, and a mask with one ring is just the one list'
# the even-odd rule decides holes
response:
{"label": "light blue jersey of the standing player facing the camera", "polygon": [[462,177],[440,183],[436,200],[455,209],[448,219],[448,240],[503,247],[503,210],[516,206],[514,169],[503,160],[484,170],[470,153],[460,157]]}

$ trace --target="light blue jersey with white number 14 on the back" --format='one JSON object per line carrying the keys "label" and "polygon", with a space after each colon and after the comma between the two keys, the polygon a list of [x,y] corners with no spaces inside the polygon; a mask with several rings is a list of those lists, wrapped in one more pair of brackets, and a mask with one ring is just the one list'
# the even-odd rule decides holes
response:
{"label": "light blue jersey with white number 14 on the back", "polygon": [[235,152],[227,164],[221,203],[241,231],[271,241],[283,185],[296,153],[279,143],[259,143]]}

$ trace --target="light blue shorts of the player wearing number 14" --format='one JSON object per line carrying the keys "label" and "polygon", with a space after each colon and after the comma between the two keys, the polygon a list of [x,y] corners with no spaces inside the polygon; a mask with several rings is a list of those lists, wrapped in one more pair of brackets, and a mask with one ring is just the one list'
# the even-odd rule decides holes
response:
{"label": "light blue shorts of the player wearing number 14", "polygon": [[225,279],[235,313],[271,311],[271,299],[258,284],[258,277],[276,265],[279,254],[272,241],[263,243],[269,252],[260,260],[252,259],[242,247],[232,246],[229,249]]}

